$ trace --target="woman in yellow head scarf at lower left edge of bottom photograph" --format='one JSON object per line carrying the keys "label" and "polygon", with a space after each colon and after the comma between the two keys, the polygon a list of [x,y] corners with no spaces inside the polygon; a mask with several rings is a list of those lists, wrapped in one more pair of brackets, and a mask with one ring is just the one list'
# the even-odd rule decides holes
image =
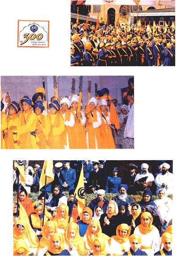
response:
{"label": "woman in yellow head scarf at lower left edge of bottom photograph", "polygon": [[37,252],[38,237],[31,226],[24,220],[17,221],[13,227],[13,246],[15,246],[19,239],[25,241],[29,250],[34,252],[34,254]]}

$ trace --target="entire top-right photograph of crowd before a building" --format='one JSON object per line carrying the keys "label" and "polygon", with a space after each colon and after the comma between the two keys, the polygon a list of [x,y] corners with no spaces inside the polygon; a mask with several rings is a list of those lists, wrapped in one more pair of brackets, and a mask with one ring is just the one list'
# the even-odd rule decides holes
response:
{"label": "entire top-right photograph of crowd before a building", "polygon": [[71,1],[71,66],[175,66],[175,0]]}

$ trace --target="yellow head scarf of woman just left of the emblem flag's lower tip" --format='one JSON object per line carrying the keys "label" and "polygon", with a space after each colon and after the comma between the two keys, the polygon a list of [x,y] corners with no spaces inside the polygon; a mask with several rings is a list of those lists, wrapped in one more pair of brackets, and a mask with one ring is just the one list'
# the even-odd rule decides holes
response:
{"label": "yellow head scarf of woman just left of the emblem flag's lower tip", "polygon": [[[60,213],[61,210],[65,211],[64,217],[61,217],[61,213]],[[57,222],[57,226],[60,229],[64,229],[64,230],[66,229],[66,226],[67,226],[67,223],[68,223],[68,218],[69,218],[68,210],[69,210],[68,206],[63,204],[63,203],[60,204],[59,207],[58,207],[58,213],[54,217],[53,220],[54,220],[54,222]],[[71,220],[71,222],[72,222],[72,220]]]}

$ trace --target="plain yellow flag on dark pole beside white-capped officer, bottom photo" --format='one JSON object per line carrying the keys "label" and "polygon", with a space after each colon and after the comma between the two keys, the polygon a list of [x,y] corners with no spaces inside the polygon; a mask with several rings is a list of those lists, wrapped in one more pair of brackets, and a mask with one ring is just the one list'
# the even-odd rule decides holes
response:
{"label": "plain yellow flag on dark pole beside white-capped officer, bottom photo", "polygon": [[45,178],[46,178],[46,184],[52,182],[54,180],[54,174],[53,174],[53,161],[44,161],[42,173],[40,176],[39,181],[39,191],[42,187],[45,186]]}

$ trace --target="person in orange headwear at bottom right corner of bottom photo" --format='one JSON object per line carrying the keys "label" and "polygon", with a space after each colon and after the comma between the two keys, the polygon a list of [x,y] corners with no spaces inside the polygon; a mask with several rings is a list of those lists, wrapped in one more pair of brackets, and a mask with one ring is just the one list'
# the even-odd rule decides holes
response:
{"label": "person in orange headwear at bottom right corner of bottom photo", "polygon": [[155,252],[154,255],[172,255],[172,235],[168,232],[163,233],[161,243],[163,244],[163,249]]}

